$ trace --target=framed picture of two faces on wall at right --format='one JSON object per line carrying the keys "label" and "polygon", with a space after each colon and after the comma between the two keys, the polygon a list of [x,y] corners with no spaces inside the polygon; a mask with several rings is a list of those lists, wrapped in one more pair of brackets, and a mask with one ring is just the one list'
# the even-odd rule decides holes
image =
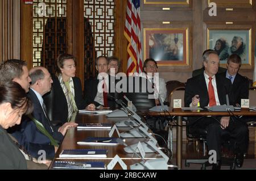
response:
{"label": "framed picture of two faces on wall at right", "polygon": [[230,54],[238,54],[242,67],[251,66],[251,28],[249,29],[207,29],[207,48],[217,51],[220,64],[226,64]]}

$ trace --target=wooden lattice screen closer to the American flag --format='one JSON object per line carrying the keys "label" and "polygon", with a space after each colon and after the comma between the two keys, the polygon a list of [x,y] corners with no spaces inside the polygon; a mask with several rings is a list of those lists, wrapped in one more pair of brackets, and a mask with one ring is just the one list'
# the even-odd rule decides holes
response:
{"label": "wooden lattice screen closer to the American flag", "polygon": [[[114,0],[84,0],[85,78],[95,75],[95,58],[114,51]],[[93,40],[94,39],[94,40]]]}

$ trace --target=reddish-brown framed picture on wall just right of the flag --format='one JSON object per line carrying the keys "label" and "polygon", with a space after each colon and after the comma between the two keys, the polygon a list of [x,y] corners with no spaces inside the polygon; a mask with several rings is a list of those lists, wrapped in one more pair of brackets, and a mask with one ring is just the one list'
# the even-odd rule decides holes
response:
{"label": "reddish-brown framed picture on wall just right of the flag", "polygon": [[159,66],[188,65],[188,28],[144,28],[144,60]]}

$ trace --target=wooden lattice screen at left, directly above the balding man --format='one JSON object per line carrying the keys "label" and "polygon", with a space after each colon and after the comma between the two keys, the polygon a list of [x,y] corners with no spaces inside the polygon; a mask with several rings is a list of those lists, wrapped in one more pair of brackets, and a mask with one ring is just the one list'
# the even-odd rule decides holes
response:
{"label": "wooden lattice screen at left, directly above the balding man", "polygon": [[55,60],[67,50],[67,0],[33,1],[33,66],[55,70]]}

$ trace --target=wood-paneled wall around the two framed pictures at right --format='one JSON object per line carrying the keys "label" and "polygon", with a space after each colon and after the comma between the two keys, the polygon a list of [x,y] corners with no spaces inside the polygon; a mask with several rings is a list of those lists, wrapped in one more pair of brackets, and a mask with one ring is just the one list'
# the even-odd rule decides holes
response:
{"label": "wood-paneled wall around the two framed pictures at right", "polygon": [[[208,0],[189,0],[189,5],[168,5],[161,3],[144,4],[141,1],[141,19],[142,28],[172,28],[191,26],[190,35],[192,39],[189,43],[189,50],[192,52],[190,57],[190,66],[188,68],[174,67],[174,66],[159,66],[158,71],[160,77],[166,81],[177,80],[186,82],[188,78],[192,77],[192,70],[201,68],[202,53],[207,48],[207,27],[209,24],[214,24],[219,27],[227,26],[225,22],[233,22],[233,27],[248,26],[253,27],[252,45],[255,42],[255,24],[256,11],[255,1],[250,5],[249,1],[236,1],[239,6],[233,5],[233,1],[218,1],[217,16],[209,16]],[[221,2],[221,4],[220,4]],[[225,2],[225,3],[224,3]],[[232,7],[233,11],[226,11],[226,7]],[[170,10],[164,11],[163,7],[168,7]],[[162,22],[170,22],[170,24],[162,24]],[[228,26],[227,26],[228,27]],[[231,27],[231,26],[230,26]],[[253,47],[254,49],[254,47]],[[254,50],[252,51],[252,58],[254,57]],[[254,63],[254,62],[253,62]],[[251,69],[241,69],[240,73],[253,79],[254,64]],[[225,66],[225,65],[222,65]]]}

